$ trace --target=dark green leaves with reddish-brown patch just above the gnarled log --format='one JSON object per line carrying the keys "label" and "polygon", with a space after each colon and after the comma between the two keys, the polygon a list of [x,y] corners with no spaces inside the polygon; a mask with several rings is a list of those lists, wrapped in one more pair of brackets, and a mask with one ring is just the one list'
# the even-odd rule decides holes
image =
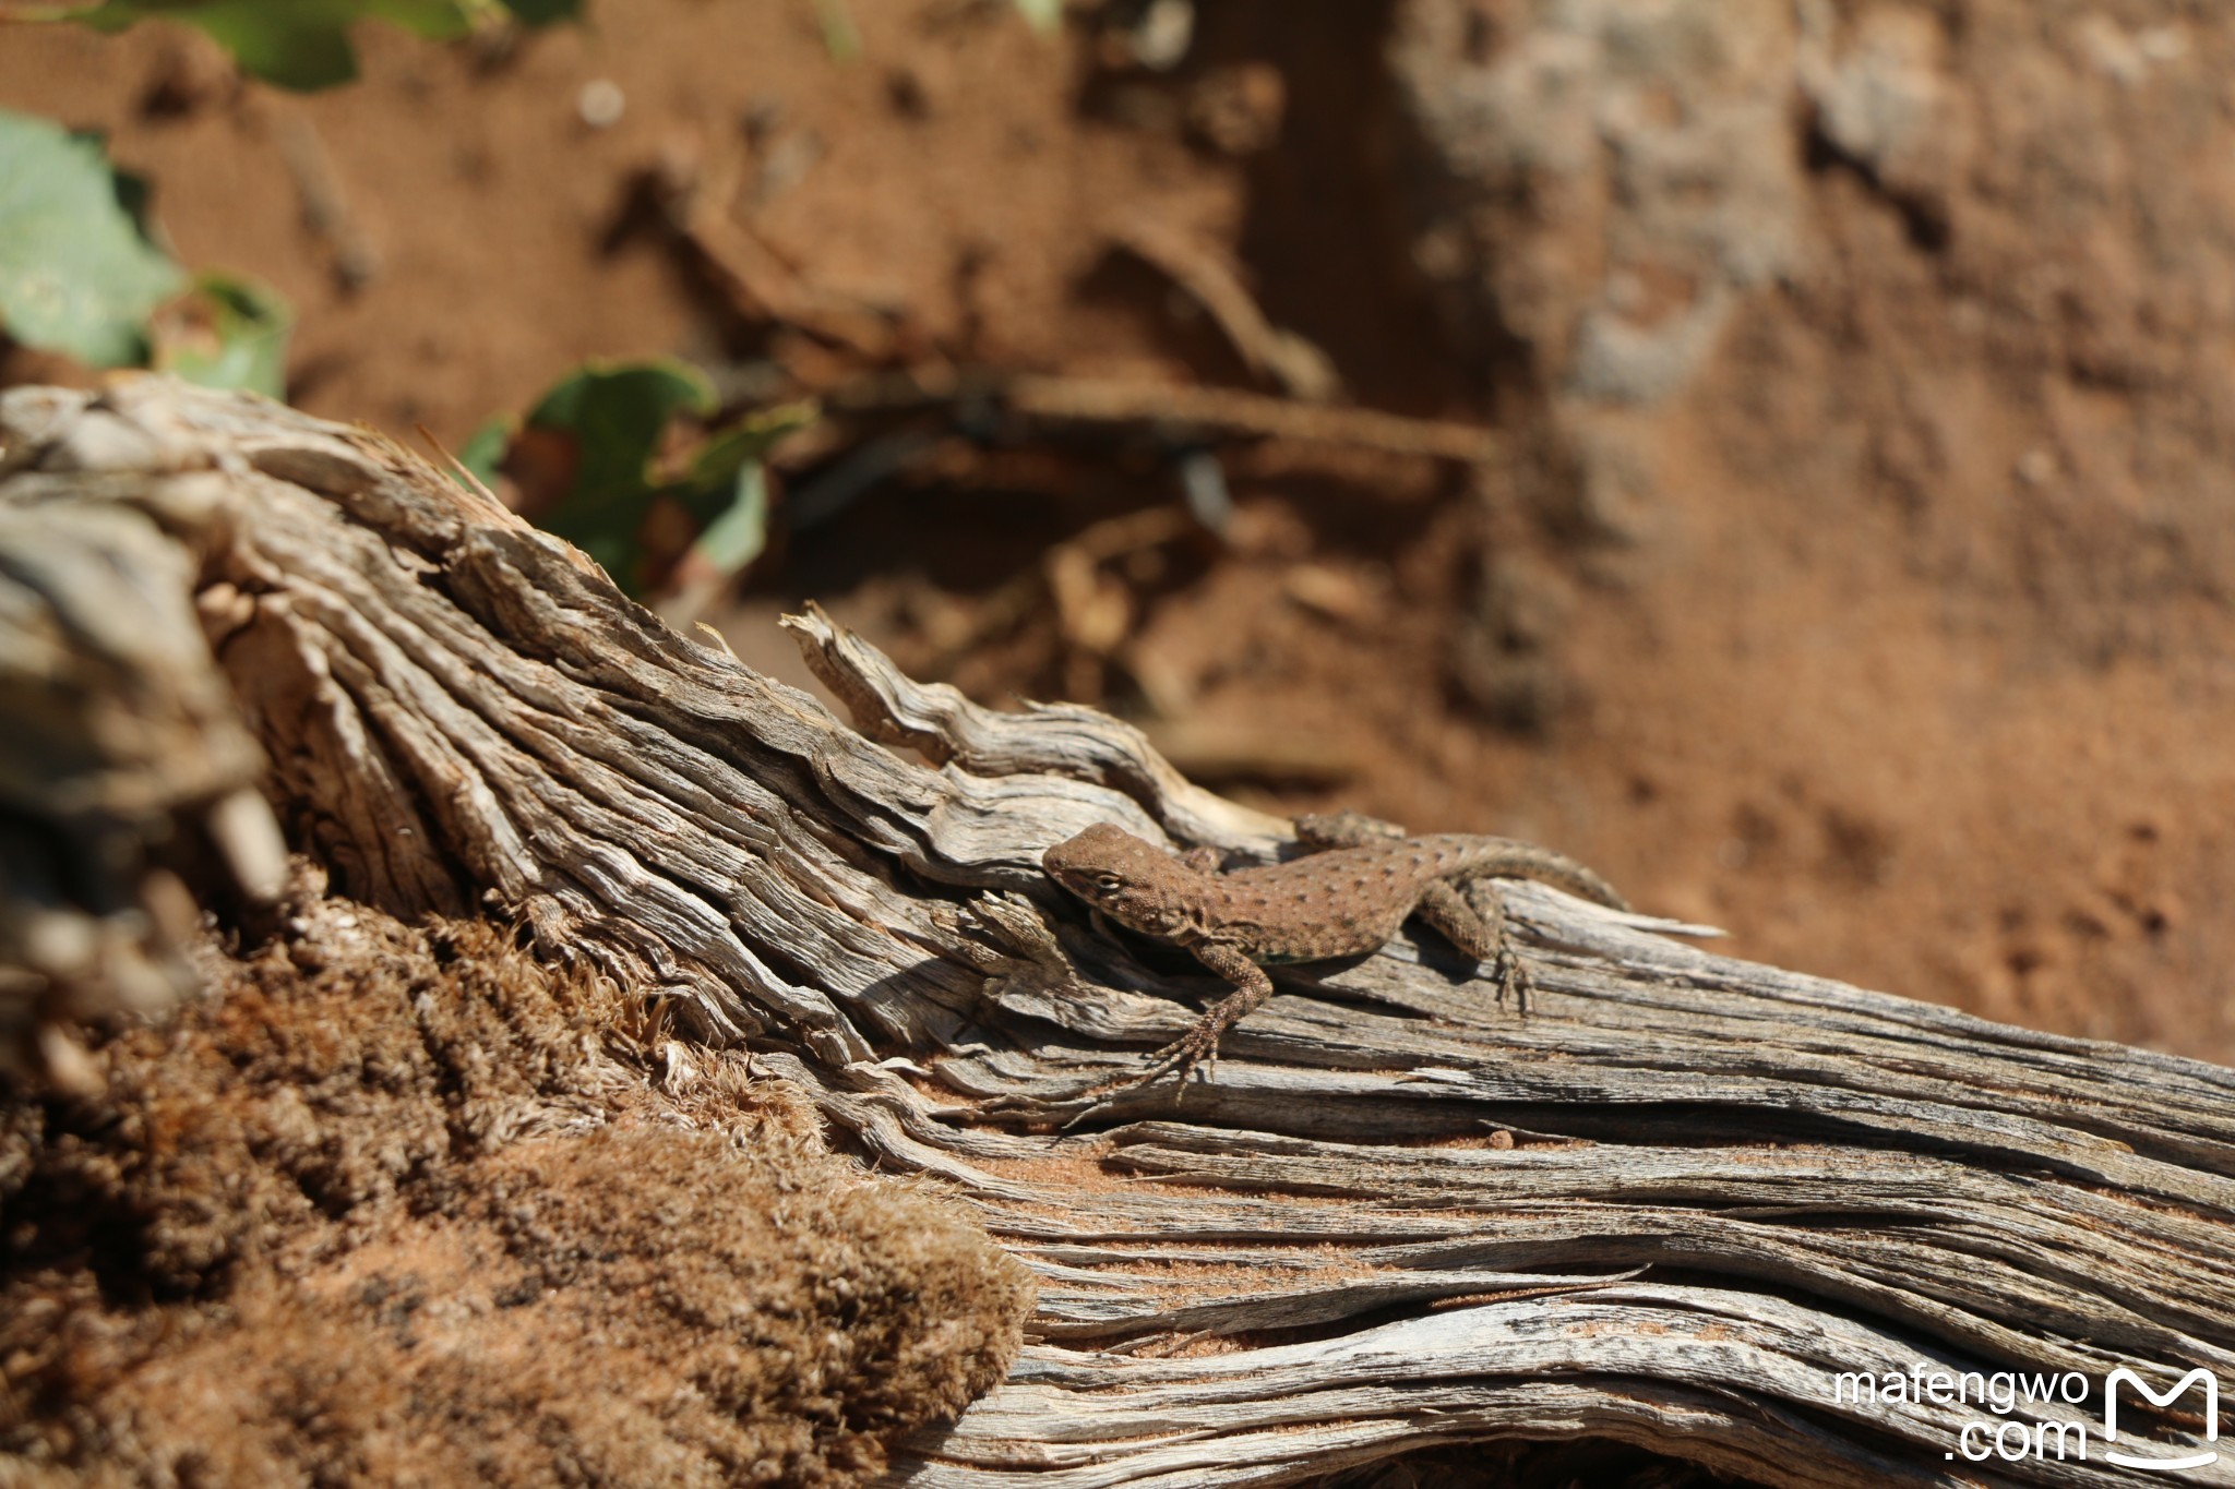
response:
{"label": "dark green leaves with reddish-brown patch just above the gnarled log", "polygon": [[[704,587],[767,547],[764,455],[816,420],[814,404],[782,404],[695,444],[679,438],[713,411],[713,386],[691,366],[592,362],[552,386],[519,426],[485,424],[458,460],[483,482],[498,469],[512,475],[534,522],[601,563],[630,594]],[[682,542],[659,540],[662,516],[684,518]]]}

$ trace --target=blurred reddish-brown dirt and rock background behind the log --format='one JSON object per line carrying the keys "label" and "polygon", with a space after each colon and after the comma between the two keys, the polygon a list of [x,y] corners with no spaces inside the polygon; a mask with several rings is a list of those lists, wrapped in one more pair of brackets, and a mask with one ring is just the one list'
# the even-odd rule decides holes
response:
{"label": "blurred reddish-brown dirt and rock background behind the log", "polygon": [[[451,446],[586,357],[740,402],[892,366],[1249,386],[1120,246],[1185,243],[1345,400],[1506,455],[1234,451],[1214,540],[1111,527],[1176,507],[1153,451],[950,440],[782,536],[720,616],[740,654],[802,681],[769,618],[816,596],[1265,804],[1531,837],[1743,955],[2235,1058],[2235,18],[843,9],[849,60],[809,0],[367,27],[313,98],[179,31],[7,27],[0,107],[107,132],[186,263],[286,292],[297,404]],[[740,304],[679,194],[890,335]]]}

